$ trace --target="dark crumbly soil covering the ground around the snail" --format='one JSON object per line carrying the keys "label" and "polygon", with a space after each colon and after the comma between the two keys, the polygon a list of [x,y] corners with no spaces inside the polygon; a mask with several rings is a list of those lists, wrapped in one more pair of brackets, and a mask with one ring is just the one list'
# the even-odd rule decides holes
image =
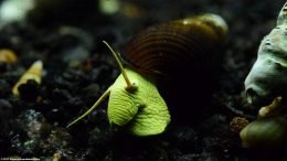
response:
{"label": "dark crumbly soil covering the ground around the snail", "polygon": [[[57,3],[55,9],[39,4],[42,10],[33,10],[28,21],[11,22],[0,29],[0,50],[10,50],[18,56],[14,63],[0,62],[0,158],[105,161],[285,158],[284,150],[244,149],[238,137],[241,126],[256,118],[256,111],[244,99],[244,78],[262,37],[275,26],[284,0],[123,0],[124,7],[137,12],[130,14],[123,9],[110,15],[97,11],[97,4],[91,9],[94,2],[70,1],[65,0],[65,6],[71,7]],[[146,26],[201,12],[221,14],[228,23],[230,35],[217,90],[199,122],[172,121],[162,135],[138,138],[110,129],[105,101],[87,118],[65,128],[119,74],[103,40],[121,52]],[[57,20],[56,13],[63,17]],[[38,60],[44,64],[41,85],[29,80],[19,87],[20,97],[13,96],[13,85]]]}

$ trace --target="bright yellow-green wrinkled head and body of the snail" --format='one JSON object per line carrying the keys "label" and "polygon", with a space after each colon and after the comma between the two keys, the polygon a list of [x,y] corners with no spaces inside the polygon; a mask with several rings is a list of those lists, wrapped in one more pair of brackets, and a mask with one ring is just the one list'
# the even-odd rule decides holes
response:
{"label": "bright yellow-green wrinkled head and body of the snail", "polygon": [[110,86],[107,109],[110,125],[127,126],[129,132],[136,136],[161,133],[170,122],[164,99],[150,80],[128,68],[126,73],[138,88],[132,93],[125,90],[123,75]]}

